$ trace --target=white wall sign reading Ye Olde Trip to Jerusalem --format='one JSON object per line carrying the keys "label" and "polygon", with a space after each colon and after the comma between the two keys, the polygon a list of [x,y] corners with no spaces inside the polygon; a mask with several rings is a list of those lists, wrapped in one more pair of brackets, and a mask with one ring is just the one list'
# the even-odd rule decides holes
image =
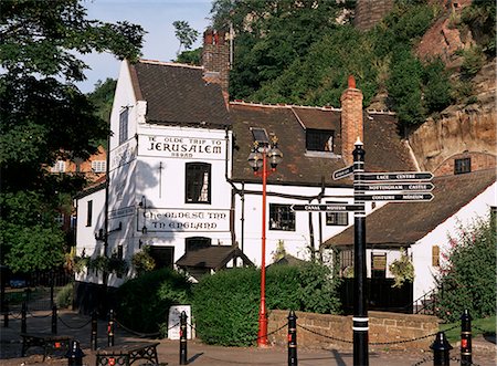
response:
{"label": "white wall sign reading Ye Olde Trip to Jerusalem", "polygon": [[171,158],[224,159],[224,139],[175,136],[139,136],[139,155]]}

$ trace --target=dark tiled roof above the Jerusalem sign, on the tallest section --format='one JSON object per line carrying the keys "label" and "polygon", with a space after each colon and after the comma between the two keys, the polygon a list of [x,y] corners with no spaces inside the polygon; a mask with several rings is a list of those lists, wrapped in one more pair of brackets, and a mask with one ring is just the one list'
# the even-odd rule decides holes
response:
{"label": "dark tiled roof above the Jerusalem sign, on the tallest section", "polygon": [[145,60],[129,67],[137,97],[147,101],[148,123],[214,128],[231,124],[221,86],[207,83],[202,67]]}

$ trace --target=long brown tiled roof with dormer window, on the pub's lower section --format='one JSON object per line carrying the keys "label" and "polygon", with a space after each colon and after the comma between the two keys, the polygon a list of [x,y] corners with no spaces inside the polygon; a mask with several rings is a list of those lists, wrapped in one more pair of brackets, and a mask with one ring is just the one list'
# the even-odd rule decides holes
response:
{"label": "long brown tiled roof with dormer window, on the pub's lower section", "polygon": [[[350,185],[350,179],[332,180],[332,172],[343,168],[341,158],[340,111],[320,107],[296,107],[289,105],[260,105],[230,103],[230,115],[235,135],[233,150],[233,179],[258,181],[246,159],[253,137],[251,127],[265,128],[279,140],[283,161],[268,181],[319,186],[321,177],[326,186]],[[396,121],[391,114],[364,113],[366,166],[369,171],[416,170],[409,148],[396,132]],[[306,128],[335,130],[335,151],[307,153]],[[326,156],[326,157],[325,157]]]}

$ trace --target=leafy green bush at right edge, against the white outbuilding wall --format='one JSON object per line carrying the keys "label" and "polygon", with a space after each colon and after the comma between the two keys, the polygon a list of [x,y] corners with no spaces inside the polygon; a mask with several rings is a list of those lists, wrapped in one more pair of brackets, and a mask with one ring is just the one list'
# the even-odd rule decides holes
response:
{"label": "leafy green bush at right edge, against the white outbuilding wall", "polygon": [[459,318],[465,309],[474,318],[496,314],[495,217],[461,227],[451,238],[451,249],[437,279],[441,287],[437,315],[448,322]]}

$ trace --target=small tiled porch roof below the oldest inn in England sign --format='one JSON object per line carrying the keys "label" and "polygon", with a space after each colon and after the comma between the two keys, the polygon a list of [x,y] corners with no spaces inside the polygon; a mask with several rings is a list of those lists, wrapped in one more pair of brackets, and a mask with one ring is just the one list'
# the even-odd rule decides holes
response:
{"label": "small tiled porch roof below the oldest inn in England sign", "polygon": [[212,245],[186,252],[176,264],[184,268],[222,269],[233,258],[242,258],[245,265],[254,265],[237,248],[232,245]]}

